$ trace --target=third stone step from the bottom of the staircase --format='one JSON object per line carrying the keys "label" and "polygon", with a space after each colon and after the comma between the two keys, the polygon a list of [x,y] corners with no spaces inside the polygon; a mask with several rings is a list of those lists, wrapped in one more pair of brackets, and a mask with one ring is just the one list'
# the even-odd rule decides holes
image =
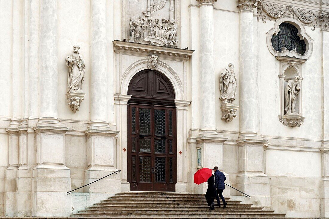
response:
{"label": "third stone step from the bottom of the staircase", "polygon": [[[142,205],[142,204],[135,204],[134,205],[125,205],[125,206],[122,206],[122,205],[103,205],[103,206],[92,206],[92,207],[86,207],[86,210],[89,210],[89,209],[107,209],[107,208],[117,208],[117,209],[131,209],[131,207],[134,207],[134,208],[137,208],[138,209],[143,209],[143,210],[152,210],[153,209],[153,205]],[[191,210],[194,210],[194,209],[200,209],[201,207],[208,207],[206,205],[198,205],[198,206],[194,206],[194,207],[191,207],[191,206],[186,206],[186,205],[181,205],[181,206],[175,206],[175,205],[172,205],[172,206],[167,206],[167,205],[157,205],[157,209],[159,210],[181,210],[181,209],[191,209]],[[223,207],[223,205],[221,205],[221,207]],[[219,208],[219,207],[218,207]],[[235,209],[235,210],[262,210],[263,207],[243,207],[243,206],[231,206],[231,205],[228,205],[225,209]]]}

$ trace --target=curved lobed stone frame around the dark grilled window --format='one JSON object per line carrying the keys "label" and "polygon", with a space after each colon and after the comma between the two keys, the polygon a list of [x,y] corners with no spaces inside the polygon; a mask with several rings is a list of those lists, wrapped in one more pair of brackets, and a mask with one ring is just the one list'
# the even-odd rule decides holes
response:
{"label": "curved lobed stone frame around the dark grilled window", "polygon": [[[294,25],[297,29],[298,29],[298,36],[300,39],[303,39],[305,41],[306,44],[306,51],[305,54],[301,55],[297,53],[297,50],[294,49],[292,51],[289,51],[287,48],[281,52],[275,51],[273,46],[272,46],[272,36],[274,34],[277,34],[280,29],[279,29],[279,25],[281,23],[290,23],[292,25]],[[308,60],[313,52],[313,39],[310,37],[309,34],[307,34],[305,32],[305,26],[303,25],[303,23],[298,20],[295,17],[291,17],[291,16],[282,16],[279,19],[277,19],[274,23],[274,27],[271,28],[268,32],[266,32],[267,37],[266,37],[266,44],[267,44],[267,48],[270,51],[270,53],[277,57],[277,56],[288,56],[291,58],[297,58],[297,59],[303,59],[303,60]]]}

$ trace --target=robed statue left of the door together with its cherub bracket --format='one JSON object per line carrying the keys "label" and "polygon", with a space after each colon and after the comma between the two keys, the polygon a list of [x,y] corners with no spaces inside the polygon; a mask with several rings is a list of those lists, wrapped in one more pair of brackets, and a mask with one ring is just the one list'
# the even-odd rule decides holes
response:
{"label": "robed statue left of the door together with its cherub bracket", "polygon": [[73,51],[65,58],[66,66],[68,67],[67,75],[67,103],[74,111],[79,111],[81,102],[86,93],[82,90],[83,78],[85,77],[86,62],[81,54],[80,47],[73,46]]}

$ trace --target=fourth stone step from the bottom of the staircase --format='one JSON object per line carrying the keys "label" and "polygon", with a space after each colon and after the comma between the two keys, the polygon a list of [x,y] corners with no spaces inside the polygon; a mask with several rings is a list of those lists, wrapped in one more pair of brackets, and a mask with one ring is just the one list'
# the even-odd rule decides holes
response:
{"label": "fourth stone step from the bottom of the staircase", "polygon": [[[207,206],[206,201],[204,200],[203,202],[200,203],[173,203],[173,202],[168,202],[168,203],[161,203],[162,205],[166,205],[168,207],[172,207],[172,206],[183,206],[183,207],[200,207],[200,206]],[[111,201],[108,200],[108,202],[101,202],[101,203],[97,203],[94,204],[93,207],[98,207],[98,206],[112,206],[112,205],[121,205],[121,206],[125,206],[125,207],[129,207],[129,206],[154,206],[154,202],[152,201],[145,201],[145,202],[129,202],[128,201]],[[157,205],[158,206],[158,205]],[[231,206],[239,206],[239,207],[251,207],[252,204],[240,204],[240,203],[228,203],[227,207],[231,207]]]}

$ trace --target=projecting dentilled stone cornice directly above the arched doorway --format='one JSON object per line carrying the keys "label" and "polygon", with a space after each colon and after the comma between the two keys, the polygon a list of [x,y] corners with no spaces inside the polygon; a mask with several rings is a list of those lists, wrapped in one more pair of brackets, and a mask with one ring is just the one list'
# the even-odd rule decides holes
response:
{"label": "projecting dentilled stone cornice directly above the arched doorway", "polygon": [[114,40],[115,53],[127,53],[132,55],[157,55],[180,61],[189,60],[194,50],[169,48],[164,46],[147,45],[142,43]]}

